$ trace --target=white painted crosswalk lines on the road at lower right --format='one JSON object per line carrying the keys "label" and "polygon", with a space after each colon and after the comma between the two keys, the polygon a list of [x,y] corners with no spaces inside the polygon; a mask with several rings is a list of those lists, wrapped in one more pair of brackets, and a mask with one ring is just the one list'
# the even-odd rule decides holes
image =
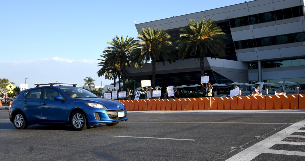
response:
{"label": "white painted crosswalk lines on the road at lower right", "polygon": [[[287,128],[279,131],[278,133],[264,139],[252,145],[251,147],[239,152],[238,154],[232,156],[226,161],[250,161],[261,153],[274,153],[274,154],[287,154],[287,155],[296,155],[304,156],[305,152],[294,152],[294,151],[285,151],[285,150],[271,150],[273,145],[281,144],[283,139],[286,137],[298,137],[296,135],[291,135],[292,133],[299,131],[300,128],[304,127],[305,120],[297,122],[293,125],[288,126]],[[283,153],[284,152],[284,153]]]}

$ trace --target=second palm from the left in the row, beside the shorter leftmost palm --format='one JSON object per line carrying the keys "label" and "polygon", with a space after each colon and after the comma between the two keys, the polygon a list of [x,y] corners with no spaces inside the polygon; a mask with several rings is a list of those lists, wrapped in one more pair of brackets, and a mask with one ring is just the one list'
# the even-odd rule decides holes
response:
{"label": "second palm from the left in the row, beside the shorter leftmost palm", "polygon": [[131,53],[137,48],[137,42],[138,41],[134,40],[133,37],[128,38],[128,35],[125,40],[123,36],[121,36],[121,38],[115,36],[115,38],[112,39],[112,42],[107,42],[107,44],[110,44],[111,46],[106,47],[103,51],[103,53],[108,53],[108,63],[120,64],[122,68],[123,89],[125,89],[126,82],[126,65],[130,67],[132,64]]}

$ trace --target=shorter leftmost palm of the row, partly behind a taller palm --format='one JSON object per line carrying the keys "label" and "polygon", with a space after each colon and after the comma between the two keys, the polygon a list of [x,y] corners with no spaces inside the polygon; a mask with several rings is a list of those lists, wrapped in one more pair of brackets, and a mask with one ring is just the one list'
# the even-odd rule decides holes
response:
{"label": "shorter leftmost palm of the row, partly behind a taller palm", "polygon": [[[120,64],[114,63],[110,61],[109,53],[106,53],[104,55],[100,55],[103,59],[97,59],[101,60],[100,63],[98,63],[98,67],[102,66],[99,71],[96,72],[96,74],[100,77],[105,75],[105,79],[113,79],[113,88],[115,87],[115,79],[118,78],[119,75],[121,75],[121,68]],[[120,78],[119,78],[120,79]],[[119,80],[120,83],[120,80]]]}

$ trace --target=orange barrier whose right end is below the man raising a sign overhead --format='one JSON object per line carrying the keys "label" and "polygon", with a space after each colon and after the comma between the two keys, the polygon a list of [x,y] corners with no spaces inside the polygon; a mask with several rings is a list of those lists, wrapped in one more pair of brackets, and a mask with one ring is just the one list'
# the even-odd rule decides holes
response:
{"label": "orange barrier whose right end is below the man raising a sign overhead", "polygon": [[187,110],[211,110],[211,97],[188,98]]}

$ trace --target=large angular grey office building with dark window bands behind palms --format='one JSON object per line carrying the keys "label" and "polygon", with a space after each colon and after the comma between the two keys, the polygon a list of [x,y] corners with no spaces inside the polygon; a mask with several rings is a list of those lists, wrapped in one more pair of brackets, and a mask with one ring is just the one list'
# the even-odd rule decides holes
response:
{"label": "large angular grey office building with dark window bands behind palms", "polygon": [[[205,58],[205,75],[212,84],[232,82],[270,82],[277,90],[284,80],[305,84],[305,16],[304,0],[255,0],[182,16],[135,24],[138,33],[142,28],[164,29],[173,41],[180,38],[180,28],[187,27],[189,19],[215,20],[228,39],[226,56]],[[174,45],[176,45],[174,43]],[[200,65],[197,57],[178,59],[169,64],[156,65],[155,86],[181,86],[200,84]],[[127,77],[136,81],[152,79],[151,63],[143,68],[130,67]],[[295,86],[295,84],[292,84]],[[194,89],[193,89],[194,90]],[[221,87],[217,88],[220,91]],[[223,86],[223,91],[231,86]]]}

